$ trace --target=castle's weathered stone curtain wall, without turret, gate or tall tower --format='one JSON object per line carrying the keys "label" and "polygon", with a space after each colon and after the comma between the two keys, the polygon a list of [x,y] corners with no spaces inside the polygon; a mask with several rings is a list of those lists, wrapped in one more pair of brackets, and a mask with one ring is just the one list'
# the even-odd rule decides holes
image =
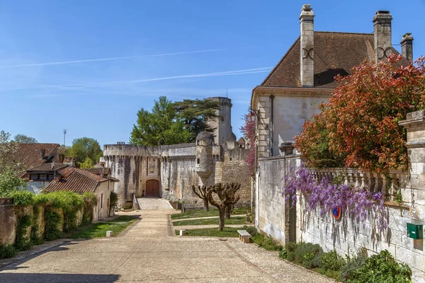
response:
{"label": "castle's weathered stone curtain wall, without turret, gate or tall tower", "polygon": [[[246,171],[244,159],[247,149],[227,149],[223,146],[211,148],[211,171],[208,178],[196,172],[196,145],[177,144],[171,146],[133,146],[129,144],[107,144],[104,146],[106,167],[117,178],[114,191],[118,193],[118,205],[136,197],[145,196],[147,180],[158,180],[159,197],[183,201],[190,206],[201,206],[192,185],[213,183],[241,183],[241,199],[238,204],[251,201],[251,177]],[[232,158],[232,160],[230,160]]]}

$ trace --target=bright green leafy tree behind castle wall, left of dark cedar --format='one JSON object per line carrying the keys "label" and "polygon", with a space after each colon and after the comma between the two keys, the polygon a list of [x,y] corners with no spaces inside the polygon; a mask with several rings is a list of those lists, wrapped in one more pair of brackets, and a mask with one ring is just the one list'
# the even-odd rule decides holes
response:
{"label": "bright green leafy tree behind castle wall, left of dark cedar", "polygon": [[130,144],[145,146],[181,144],[190,140],[191,132],[184,127],[174,103],[166,96],[155,100],[152,112],[143,108],[137,112],[137,125],[133,126],[130,134]]}

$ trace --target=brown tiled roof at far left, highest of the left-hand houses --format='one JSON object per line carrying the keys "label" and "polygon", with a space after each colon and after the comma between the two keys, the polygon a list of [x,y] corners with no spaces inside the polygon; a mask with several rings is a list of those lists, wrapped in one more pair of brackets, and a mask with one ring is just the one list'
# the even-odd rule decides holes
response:
{"label": "brown tiled roof at far left, highest of the left-hand houses", "polygon": [[[19,144],[18,159],[26,168],[33,168],[42,163],[52,161],[57,155],[59,144]],[[40,158],[40,151],[44,150],[44,158]]]}

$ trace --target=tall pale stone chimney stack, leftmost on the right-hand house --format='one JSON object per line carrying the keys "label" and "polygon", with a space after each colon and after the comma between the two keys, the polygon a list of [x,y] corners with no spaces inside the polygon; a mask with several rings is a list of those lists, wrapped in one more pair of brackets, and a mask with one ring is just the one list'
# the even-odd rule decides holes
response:
{"label": "tall pale stone chimney stack, leftmost on the right-hand house", "polygon": [[314,86],[314,13],[310,4],[304,4],[301,9],[300,45],[301,45],[301,86]]}

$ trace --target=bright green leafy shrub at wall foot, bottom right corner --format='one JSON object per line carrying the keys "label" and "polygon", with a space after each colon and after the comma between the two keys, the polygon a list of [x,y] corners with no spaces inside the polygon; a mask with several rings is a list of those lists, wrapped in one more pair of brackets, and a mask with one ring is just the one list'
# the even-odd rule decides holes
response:
{"label": "bright green leafy shrub at wall foot, bottom right corner", "polygon": [[378,255],[366,259],[361,268],[353,271],[351,283],[412,282],[412,270],[404,263],[398,263],[388,250],[382,250]]}

